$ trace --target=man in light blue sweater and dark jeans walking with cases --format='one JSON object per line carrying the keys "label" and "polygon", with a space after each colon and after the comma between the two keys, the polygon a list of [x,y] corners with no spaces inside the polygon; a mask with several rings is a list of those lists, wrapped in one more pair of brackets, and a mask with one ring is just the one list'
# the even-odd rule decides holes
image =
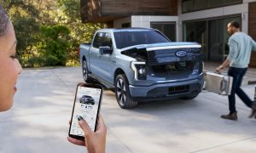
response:
{"label": "man in light blue sweater and dark jeans walking with cases", "polygon": [[252,108],[252,114],[249,117],[256,117],[256,106],[253,104],[253,100],[240,88],[242,77],[245,75],[250,62],[251,52],[252,50],[256,51],[256,42],[253,41],[252,37],[240,31],[239,23],[236,21],[231,21],[228,24],[227,31],[230,34],[228,42],[230,54],[224,63],[216,68],[216,71],[221,73],[225,67],[230,65],[228,75],[233,77],[233,84],[231,94],[229,95],[230,113],[222,115],[221,118],[237,120],[235,94],[238,95],[245,105]]}

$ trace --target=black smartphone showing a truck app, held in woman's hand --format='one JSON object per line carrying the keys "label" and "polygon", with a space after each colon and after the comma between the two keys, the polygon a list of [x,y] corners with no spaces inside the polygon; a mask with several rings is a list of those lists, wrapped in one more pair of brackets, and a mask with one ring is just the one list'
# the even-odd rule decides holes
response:
{"label": "black smartphone showing a truck app, held in woman's hand", "polygon": [[103,88],[98,84],[80,82],[76,89],[68,136],[84,140],[84,131],[79,127],[78,116],[82,116],[90,129],[96,132],[99,112],[102,105]]}

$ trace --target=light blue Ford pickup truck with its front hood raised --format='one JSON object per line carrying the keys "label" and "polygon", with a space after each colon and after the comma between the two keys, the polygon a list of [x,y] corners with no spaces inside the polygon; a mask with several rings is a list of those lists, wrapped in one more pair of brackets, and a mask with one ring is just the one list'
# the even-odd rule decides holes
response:
{"label": "light blue Ford pickup truck with its front hood raised", "polygon": [[84,81],[112,89],[123,109],[144,101],[194,99],[204,82],[201,44],[171,42],[150,28],[98,30],[79,54]]}

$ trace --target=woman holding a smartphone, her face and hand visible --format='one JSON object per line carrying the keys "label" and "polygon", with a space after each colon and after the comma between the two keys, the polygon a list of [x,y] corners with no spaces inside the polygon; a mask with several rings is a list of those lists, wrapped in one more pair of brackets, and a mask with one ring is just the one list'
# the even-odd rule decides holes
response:
{"label": "woman holding a smartphone, her face and hand visible", "polygon": [[[0,112],[12,107],[17,91],[15,85],[22,71],[19,60],[15,58],[16,44],[14,26],[0,6]],[[79,125],[86,133],[84,141],[67,138],[68,141],[87,146],[88,152],[105,152],[107,129],[102,116],[96,133],[90,130],[83,118],[79,118]]]}

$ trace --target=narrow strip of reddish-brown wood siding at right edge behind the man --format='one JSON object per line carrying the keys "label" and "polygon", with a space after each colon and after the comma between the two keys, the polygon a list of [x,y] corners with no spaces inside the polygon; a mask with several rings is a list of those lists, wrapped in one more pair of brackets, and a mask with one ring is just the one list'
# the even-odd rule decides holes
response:
{"label": "narrow strip of reddish-brown wood siding at right edge behind the man", "polygon": [[[256,41],[256,3],[249,3],[248,34]],[[252,52],[250,66],[256,67],[256,52]]]}

